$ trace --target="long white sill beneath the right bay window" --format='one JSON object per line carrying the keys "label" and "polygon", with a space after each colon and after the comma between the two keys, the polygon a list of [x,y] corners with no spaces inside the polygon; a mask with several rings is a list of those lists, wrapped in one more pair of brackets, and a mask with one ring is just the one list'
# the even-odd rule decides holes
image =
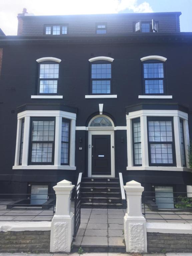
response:
{"label": "long white sill beneath the right bay window", "polygon": [[192,169],[188,169],[186,167],[176,167],[176,166],[127,166],[127,171],[134,171],[134,170],[192,172]]}

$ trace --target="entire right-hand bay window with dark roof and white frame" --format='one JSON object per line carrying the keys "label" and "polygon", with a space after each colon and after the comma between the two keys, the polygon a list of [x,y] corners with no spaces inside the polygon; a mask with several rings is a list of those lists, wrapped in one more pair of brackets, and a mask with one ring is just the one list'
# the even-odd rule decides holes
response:
{"label": "entire right-hand bay window with dark roof and white frame", "polygon": [[184,111],[177,104],[162,103],[141,103],[126,108],[127,170],[184,171],[189,168],[188,114],[187,109]]}

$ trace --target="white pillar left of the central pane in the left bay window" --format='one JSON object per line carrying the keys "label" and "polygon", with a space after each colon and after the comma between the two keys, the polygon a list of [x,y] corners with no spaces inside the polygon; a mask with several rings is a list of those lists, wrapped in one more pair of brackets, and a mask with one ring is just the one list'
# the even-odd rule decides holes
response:
{"label": "white pillar left of the central pane in the left bay window", "polygon": [[30,133],[30,116],[25,116],[22,165],[28,165],[29,133]]}

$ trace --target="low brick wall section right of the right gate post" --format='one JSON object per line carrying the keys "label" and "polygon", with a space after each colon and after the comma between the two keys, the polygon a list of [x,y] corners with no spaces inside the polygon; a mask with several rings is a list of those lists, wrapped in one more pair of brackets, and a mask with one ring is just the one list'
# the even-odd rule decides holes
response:
{"label": "low brick wall section right of the right gate post", "polygon": [[147,233],[147,251],[192,252],[192,235]]}

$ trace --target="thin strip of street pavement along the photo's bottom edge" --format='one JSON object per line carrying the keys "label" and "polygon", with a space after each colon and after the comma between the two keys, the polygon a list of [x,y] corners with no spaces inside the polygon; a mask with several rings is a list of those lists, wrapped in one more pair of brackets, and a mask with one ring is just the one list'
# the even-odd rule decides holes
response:
{"label": "thin strip of street pavement along the photo's bottom edge", "polygon": [[[0,256],[79,256],[79,253],[0,253]],[[115,253],[115,252],[90,252],[81,256],[192,256],[192,253]]]}

